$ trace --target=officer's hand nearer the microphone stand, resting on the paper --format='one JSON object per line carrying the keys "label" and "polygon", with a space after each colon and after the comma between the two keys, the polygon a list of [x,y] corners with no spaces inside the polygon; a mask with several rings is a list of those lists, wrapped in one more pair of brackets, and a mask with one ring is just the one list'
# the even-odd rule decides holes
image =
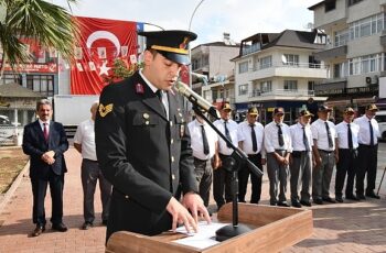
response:
{"label": "officer's hand nearer the microphone stand, resting on the paper", "polygon": [[191,211],[195,222],[199,222],[200,215],[200,218],[204,218],[207,223],[211,223],[210,213],[207,212],[204,201],[200,195],[194,193],[185,194],[182,198],[182,205]]}

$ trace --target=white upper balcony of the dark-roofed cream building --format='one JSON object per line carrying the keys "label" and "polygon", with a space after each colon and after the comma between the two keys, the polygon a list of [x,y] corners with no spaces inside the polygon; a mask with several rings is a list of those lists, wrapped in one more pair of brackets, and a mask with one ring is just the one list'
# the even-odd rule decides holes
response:
{"label": "white upper balcony of the dark-roofed cream building", "polygon": [[328,76],[326,68],[323,64],[312,63],[276,63],[267,68],[260,68],[260,66],[258,66],[248,74],[249,80],[270,78],[275,76],[323,79]]}

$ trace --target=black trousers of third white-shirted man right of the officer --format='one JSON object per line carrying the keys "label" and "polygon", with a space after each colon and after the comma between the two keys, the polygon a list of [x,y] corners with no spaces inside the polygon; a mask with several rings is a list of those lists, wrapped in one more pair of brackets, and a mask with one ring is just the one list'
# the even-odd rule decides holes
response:
{"label": "black trousers of third white-shirted man right of the officer", "polygon": [[[261,154],[248,155],[248,160],[262,172]],[[261,196],[261,177],[256,176],[246,165],[238,170],[238,201],[245,202],[249,175],[251,183],[250,202],[258,204]]]}

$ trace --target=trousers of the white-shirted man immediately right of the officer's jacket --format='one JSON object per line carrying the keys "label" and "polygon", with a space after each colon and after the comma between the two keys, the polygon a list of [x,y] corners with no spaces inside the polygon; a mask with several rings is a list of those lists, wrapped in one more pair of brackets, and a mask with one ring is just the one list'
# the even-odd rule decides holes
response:
{"label": "trousers of the white-shirted man immediately right of the officer's jacket", "polygon": [[212,165],[211,160],[199,160],[194,157],[195,178],[199,183],[200,196],[205,207],[210,205],[210,194],[212,186]]}

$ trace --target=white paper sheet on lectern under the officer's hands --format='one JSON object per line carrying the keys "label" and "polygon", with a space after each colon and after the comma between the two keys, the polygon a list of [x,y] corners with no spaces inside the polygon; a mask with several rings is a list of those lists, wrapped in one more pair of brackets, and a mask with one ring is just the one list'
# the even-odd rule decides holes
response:
{"label": "white paper sheet on lectern under the officer's hands", "polygon": [[207,224],[206,221],[200,221],[197,233],[187,233],[185,227],[180,227],[175,231],[189,237],[175,240],[173,242],[197,249],[205,249],[219,243],[215,239],[216,231],[227,224],[229,223],[212,222],[211,224]]}

